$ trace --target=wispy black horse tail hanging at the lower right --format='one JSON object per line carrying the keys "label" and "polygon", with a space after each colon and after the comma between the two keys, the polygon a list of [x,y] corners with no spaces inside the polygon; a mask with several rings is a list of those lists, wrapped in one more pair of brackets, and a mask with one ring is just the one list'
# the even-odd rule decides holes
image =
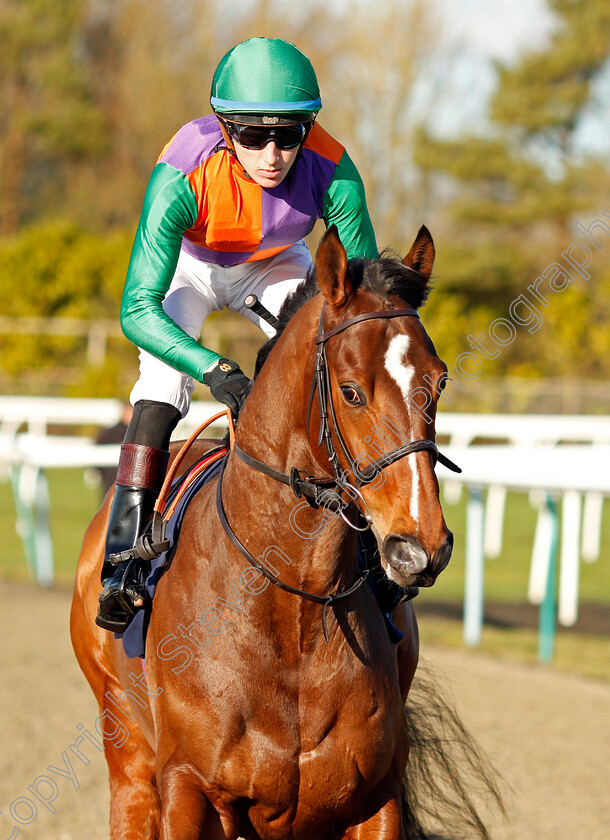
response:
{"label": "wispy black horse tail hanging at the lower right", "polygon": [[480,810],[491,805],[506,814],[504,783],[441,694],[429,666],[422,670],[420,664],[406,711],[411,741],[402,790],[407,840],[490,840]]}

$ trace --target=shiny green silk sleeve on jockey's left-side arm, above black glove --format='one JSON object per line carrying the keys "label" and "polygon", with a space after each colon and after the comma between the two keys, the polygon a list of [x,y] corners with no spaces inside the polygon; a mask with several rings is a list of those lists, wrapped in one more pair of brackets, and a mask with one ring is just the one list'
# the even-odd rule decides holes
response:
{"label": "shiny green silk sleeve on jockey's left-side arm, above black glove", "polygon": [[220,356],[191,338],[163,310],[176,270],[182,236],[197,219],[188,179],[167,163],[154,168],[129,261],[121,302],[127,338],[199,382]]}

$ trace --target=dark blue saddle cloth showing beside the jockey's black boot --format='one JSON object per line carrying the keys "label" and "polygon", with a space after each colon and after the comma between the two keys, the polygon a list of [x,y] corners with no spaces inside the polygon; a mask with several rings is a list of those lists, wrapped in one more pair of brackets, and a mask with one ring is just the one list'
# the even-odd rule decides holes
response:
{"label": "dark blue saddle cloth showing beside the jockey's black boot", "polygon": [[[176,552],[178,537],[180,536],[180,528],[182,527],[186,509],[201,488],[218,474],[221,464],[222,459],[216,461],[214,464],[210,464],[207,469],[202,470],[202,472],[193,480],[192,484],[188,486],[184,496],[178,502],[172,518],[166,524],[165,536],[169,540],[170,547],[167,551],[162,552],[158,557],[155,557],[155,559],[151,561],[148,577],[145,581],[146,589],[150,595],[151,604],[157,584],[159,583],[160,578],[169,569],[172,558]],[[180,483],[181,479],[177,479],[172,485],[172,490],[177,489]],[[131,619],[124,633],[115,633],[115,638],[122,638],[123,650],[125,651],[126,656],[144,656],[146,650],[146,631],[148,630],[148,622],[150,621],[150,612],[150,606],[148,609],[140,610]]]}

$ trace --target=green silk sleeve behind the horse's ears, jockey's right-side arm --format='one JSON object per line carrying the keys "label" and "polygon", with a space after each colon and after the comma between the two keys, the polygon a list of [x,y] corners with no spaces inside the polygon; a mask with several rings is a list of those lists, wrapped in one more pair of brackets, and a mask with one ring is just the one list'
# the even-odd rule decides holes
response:
{"label": "green silk sleeve behind the horse's ears, jockey's right-side arm", "polygon": [[324,196],[323,219],[326,227],[337,225],[348,259],[379,256],[364,184],[345,151]]}

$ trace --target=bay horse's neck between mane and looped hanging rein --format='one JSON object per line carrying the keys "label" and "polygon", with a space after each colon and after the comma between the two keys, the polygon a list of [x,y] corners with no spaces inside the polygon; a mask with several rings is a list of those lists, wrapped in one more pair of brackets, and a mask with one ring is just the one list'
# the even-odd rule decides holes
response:
{"label": "bay horse's neck between mane and looped hanging rein", "polygon": [[[316,446],[315,405],[309,433],[307,429],[315,329],[310,333],[300,338],[298,346],[292,341],[274,349],[244,406],[236,441],[285,474],[296,467],[301,476],[330,477],[328,463]],[[316,594],[351,585],[355,541],[334,509],[310,507],[303,497],[297,498],[290,488],[235,455],[227,466],[223,492],[228,518],[243,529],[238,536],[248,540],[248,550],[257,559],[276,558],[270,565],[282,581],[313,587]],[[345,562],[346,550],[353,563]]]}

